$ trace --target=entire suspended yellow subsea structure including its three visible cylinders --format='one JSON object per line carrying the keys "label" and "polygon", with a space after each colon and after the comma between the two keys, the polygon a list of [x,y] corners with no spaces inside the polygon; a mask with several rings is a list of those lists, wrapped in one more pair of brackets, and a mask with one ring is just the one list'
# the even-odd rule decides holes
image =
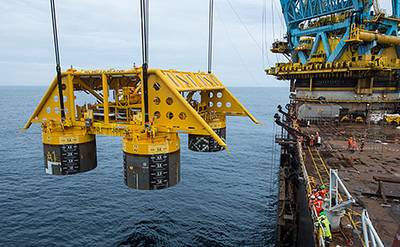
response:
{"label": "entire suspended yellow subsea structure including its three visible cylinders", "polygon": [[[65,118],[57,77],[25,125],[42,126],[46,173],[70,175],[96,168],[96,135],[122,137],[128,187],[161,189],[180,181],[180,139],[189,149],[226,148],[226,117],[257,120],[212,73],[148,70],[148,117],[142,67],[75,70],[61,74]],[[89,103],[90,102],[90,103]]]}

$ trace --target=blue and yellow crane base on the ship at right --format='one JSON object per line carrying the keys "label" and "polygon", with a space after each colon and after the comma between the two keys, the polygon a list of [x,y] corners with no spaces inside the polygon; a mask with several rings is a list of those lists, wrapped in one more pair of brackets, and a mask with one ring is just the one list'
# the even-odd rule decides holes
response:
{"label": "blue and yellow crane base on the ship at right", "polygon": [[297,102],[350,111],[396,109],[400,97],[400,1],[389,16],[375,0],[280,0],[287,33],[266,69],[291,82]]}

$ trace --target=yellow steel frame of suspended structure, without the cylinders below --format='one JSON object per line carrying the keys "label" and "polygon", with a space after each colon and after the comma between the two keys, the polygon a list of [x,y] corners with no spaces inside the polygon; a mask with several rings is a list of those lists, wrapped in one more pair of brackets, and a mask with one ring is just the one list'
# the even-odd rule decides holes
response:
{"label": "yellow steel frame of suspended structure, without the cylinders below", "polygon": [[[125,71],[116,70],[95,70],[95,71],[77,71],[70,69],[62,74],[63,83],[65,83],[66,96],[67,96],[67,107],[68,114],[71,118],[71,122],[61,122],[61,117],[58,111],[59,101],[57,100],[57,82],[53,80],[46,94],[36,107],[34,113],[25,124],[24,128],[29,128],[32,122],[39,122],[48,126],[48,128],[62,129],[63,126],[67,128],[77,127],[85,129],[89,134],[103,134],[111,136],[140,136],[143,130],[143,100],[136,103],[130,103],[129,95],[135,97],[141,97],[142,85],[135,83],[132,86],[135,87],[134,92],[129,92],[128,97],[123,97],[124,100],[128,98],[127,102],[123,102],[120,105],[119,99],[115,102],[110,102],[109,90],[121,89],[114,82],[109,79],[111,77],[121,78],[124,80],[123,83],[130,86],[130,82],[140,82],[141,79],[141,68],[134,68]],[[94,81],[92,84],[86,84],[82,78],[92,78]],[[128,77],[130,77],[128,79]],[[137,80],[136,80],[136,79]],[[74,87],[80,85],[80,87]],[[213,128],[219,126],[215,121],[225,123],[225,117],[227,115],[238,115],[248,116],[253,122],[259,123],[257,119],[251,115],[251,113],[226,89],[223,84],[213,74],[198,72],[180,72],[173,70],[159,70],[149,69],[149,106],[152,110],[149,112],[150,116],[153,117],[151,121],[152,135],[157,133],[171,133],[183,131],[186,133],[196,135],[210,135],[213,137],[220,146],[226,148],[226,143],[216,134]],[[160,84],[161,89],[155,89],[157,84]],[[78,89],[79,88],[79,89]],[[99,95],[96,90],[102,89],[103,96]],[[96,97],[102,104],[92,105],[88,108],[88,111],[98,110],[99,107],[104,107],[104,119],[96,118],[89,126],[86,126],[85,121],[87,119],[76,119],[75,116],[75,91],[86,90]],[[209,95],[210,92],[214,92],[215,96],[212,100],[202,96],[201,102],[198,102],[202,108],[201,112],[195,105],[189,104],[187,99],[183,97],[182,92],[189,92],[189,95],[194,92],[202,92],[202,95]],[[203,94],[204,93],[204,94]],[[125,92],[126,94],[126,92]],[[222,96],[223,95],[223,96]],[[122,98],[121,98],[122,99]],[[159,100],[161,105],[154,103],[155,100]],[[169,102],[169,100],[171,102]],[[211,107],[208,104],[215,102],[215,106]],[[173,102],[173,103],[172,103]],[[217,103],[219,106],[217,107]],[[223,103],[223,104],[222,104]],[[229,104],[228,104],[229,103]],[[228,106],[229,105],[229,106]],[[110,121],[110,107],[125,109],[126,119],[119,120],[118,122]],[[128,114],[129,111],[129,114]],[[160,111],[163,115],[161,119],[155,119],[155,112]],[[94,112],[94,113],[99,113]],[[168,117],[168,114],[171,117]],[[201,115],[200,115],[201,114]],[[68,116],[68,115],[67,115]],[[90,115],[89,115],[90,116]],[[92,113],[93,116],[93,113]],[[214,116],[214,117],[213,117]],[[128,118],[129,117],[129,118]],[[218,117],[219,120],[215,120]],[[221,125],[222,126],[222,125]]]}

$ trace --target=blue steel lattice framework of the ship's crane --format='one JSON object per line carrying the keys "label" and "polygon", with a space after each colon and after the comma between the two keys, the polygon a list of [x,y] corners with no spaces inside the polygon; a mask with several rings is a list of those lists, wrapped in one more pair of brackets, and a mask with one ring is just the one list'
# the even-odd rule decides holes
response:
{"label": "blue steel lattice framework of the ship's crane", "polygon": [[[314,36],[313,50],[316,49],[319,40],[322,41],[324,49],[327,55],[327,62],[334,62],[340,57],[342,52],[347,48],[346,40],[349,38],[351,31],[351,25],[358,18],[361,20],[371,20],[374,18],[371,15],[371,7],[373,5],[372,0],[281,0],[282,10],[285,17],[285,22],[288,28],[288,37],[290,37],[290,48],[293,49],[299,45],[300,37],[302,36]],[[393,0],[393,16],[400,17],[400,1]],[[354,15],[350,15],[339,23],[333,25],[326,25],[322,27],[310,28],[307,30],[301,30],[299,24],[306,20],[319,18],[331,14],[337,14],[341,12],[352,11]],[[379,27],[386,28],[387,35],[395,35],[398,33],[398,21],[397,20],[384,20],[379,23],[378,26],[371,25],[367,27],[371,30],[379,29]],[[340,43],[333,49],[330,50],[328,44],[328,33],[344,31]],[[369,44],[359,50],[360,54],[367,54],[371,52],[371,49],[376,44]],[[313,51],[312,50],[312,51]],[[400,51],[397,47],[398,52]],[[313,53],[313,52],[311,52]],[[399,54],[398,54],[399,55]],[[299,51],[297,56],[293,57],[293,61],[301,61],[306,63],[310,57]]]}

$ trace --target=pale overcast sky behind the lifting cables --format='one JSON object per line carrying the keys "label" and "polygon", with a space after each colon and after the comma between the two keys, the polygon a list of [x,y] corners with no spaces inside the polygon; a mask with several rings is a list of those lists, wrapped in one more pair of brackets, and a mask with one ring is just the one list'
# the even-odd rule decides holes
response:
{"label": "pale overcast sky behind the lifting cables", "polygon": [[[268,48],[285,31],[279,0],[215,2],[214,73],[227,86],[287,86],[263,71],[282,59],[262,55],[264,9]],[[141,63],[139,0],[63,0],[56,7],[64,70]],[[0,11],[0,85],[48,85],[55,74],[49,1],[2,0]],[[150,67],[206,71],[207,39],[208,0],[150,0]]]}

